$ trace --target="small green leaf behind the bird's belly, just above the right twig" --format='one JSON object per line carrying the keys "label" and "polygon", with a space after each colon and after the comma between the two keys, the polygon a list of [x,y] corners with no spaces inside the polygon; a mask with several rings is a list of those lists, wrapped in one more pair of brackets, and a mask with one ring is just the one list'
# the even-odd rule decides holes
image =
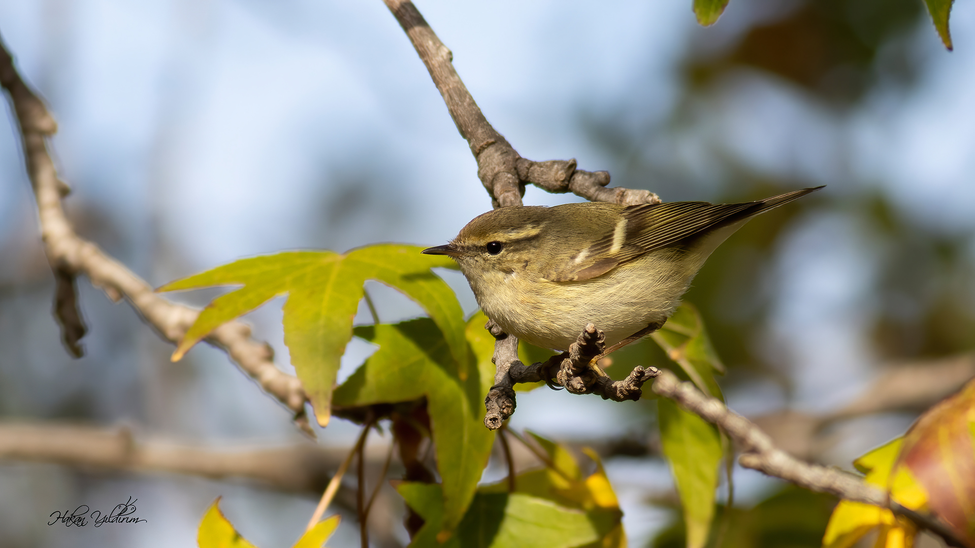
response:
{"label": "small green leaf behind the bird's belly, just above the right twig", "polygon": [[683,303],[664,327],[652,333],[650,338],[667,353],[668,358],[681,366],[702,392],[723,401],[715,372],[723,374],[724,365],[711,344],[696,308]]}

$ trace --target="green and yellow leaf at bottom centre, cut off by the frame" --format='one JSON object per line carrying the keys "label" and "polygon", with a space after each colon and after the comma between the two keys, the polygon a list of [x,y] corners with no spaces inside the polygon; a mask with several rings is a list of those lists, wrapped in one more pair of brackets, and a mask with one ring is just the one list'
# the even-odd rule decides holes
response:
{"label": "green and yellow leaf at bottom centre, cut off by the frame", "polygon": [[519,474],[514,492],[508,492],[505,481],[479,488],[449,536],[437,533],[448,507],[441,486],[400,484],[397,490],[425,521],[410,548],[626,546],[623,512],[596,453],[585,451],[596,471],[583,477],[565,447],[532,436],[546,455],[546,466]]}

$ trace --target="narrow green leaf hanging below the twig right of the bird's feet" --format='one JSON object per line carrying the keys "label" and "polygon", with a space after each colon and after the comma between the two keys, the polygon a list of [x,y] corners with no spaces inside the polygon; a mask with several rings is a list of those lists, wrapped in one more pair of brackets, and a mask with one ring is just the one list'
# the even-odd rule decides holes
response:
{"label": "narrow green leaf hanging below the twig right of the bird's feet", "polygon": [[661,446],[681,494],[687,548],[700,548],[708,540],[715,515],[721,436],[714,425],[683,411],[672,400],[657,400],[657,413]]}

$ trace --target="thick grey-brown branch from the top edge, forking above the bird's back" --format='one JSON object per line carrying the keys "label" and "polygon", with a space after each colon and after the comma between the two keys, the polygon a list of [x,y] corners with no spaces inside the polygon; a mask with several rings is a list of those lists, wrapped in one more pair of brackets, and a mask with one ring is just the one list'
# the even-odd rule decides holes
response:
{"label": "thick grey-brown branch from the top edge, forking above the bird's back", "polygon": [[477,102],[453,68],[453,55],[409,0],[383,0],[409,36],[426,65],[437,90],[447,103],[460,136],[467,140],[478,162],[478,176],[495,208],[521,206],[525,185],[549,192],[572,192],[592,202],[654,204],[660,201],[648,190],[605,188],[606,172],[575,169],[575,160],[534,162],[522,158],[513,146],[487,122]]}

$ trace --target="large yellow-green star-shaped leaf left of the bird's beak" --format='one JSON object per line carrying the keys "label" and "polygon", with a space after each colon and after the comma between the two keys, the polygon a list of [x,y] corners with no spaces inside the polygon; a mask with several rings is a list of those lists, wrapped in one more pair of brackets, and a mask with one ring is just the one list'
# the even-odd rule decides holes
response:
{"label": "large yellow-green star-shaped leaf left of the bird's beak", "polygon": [[285,344],[292,365],[315,409],[319,424],[331,415],[331,390],[363,284],[376,280],[416,301],[443,333],[451,367],[467,375],[468,351],[463,313],[446,282],[430,269],[456,268],[448,257],[420,254],[423,248],[379,244],[345,254],[285,252],[244,258],[159,288],[160,292],[213,286],[243,286],[216,297],[179,341],[173,360],[220,325],[268,300],[288,295],[284,305]]}

